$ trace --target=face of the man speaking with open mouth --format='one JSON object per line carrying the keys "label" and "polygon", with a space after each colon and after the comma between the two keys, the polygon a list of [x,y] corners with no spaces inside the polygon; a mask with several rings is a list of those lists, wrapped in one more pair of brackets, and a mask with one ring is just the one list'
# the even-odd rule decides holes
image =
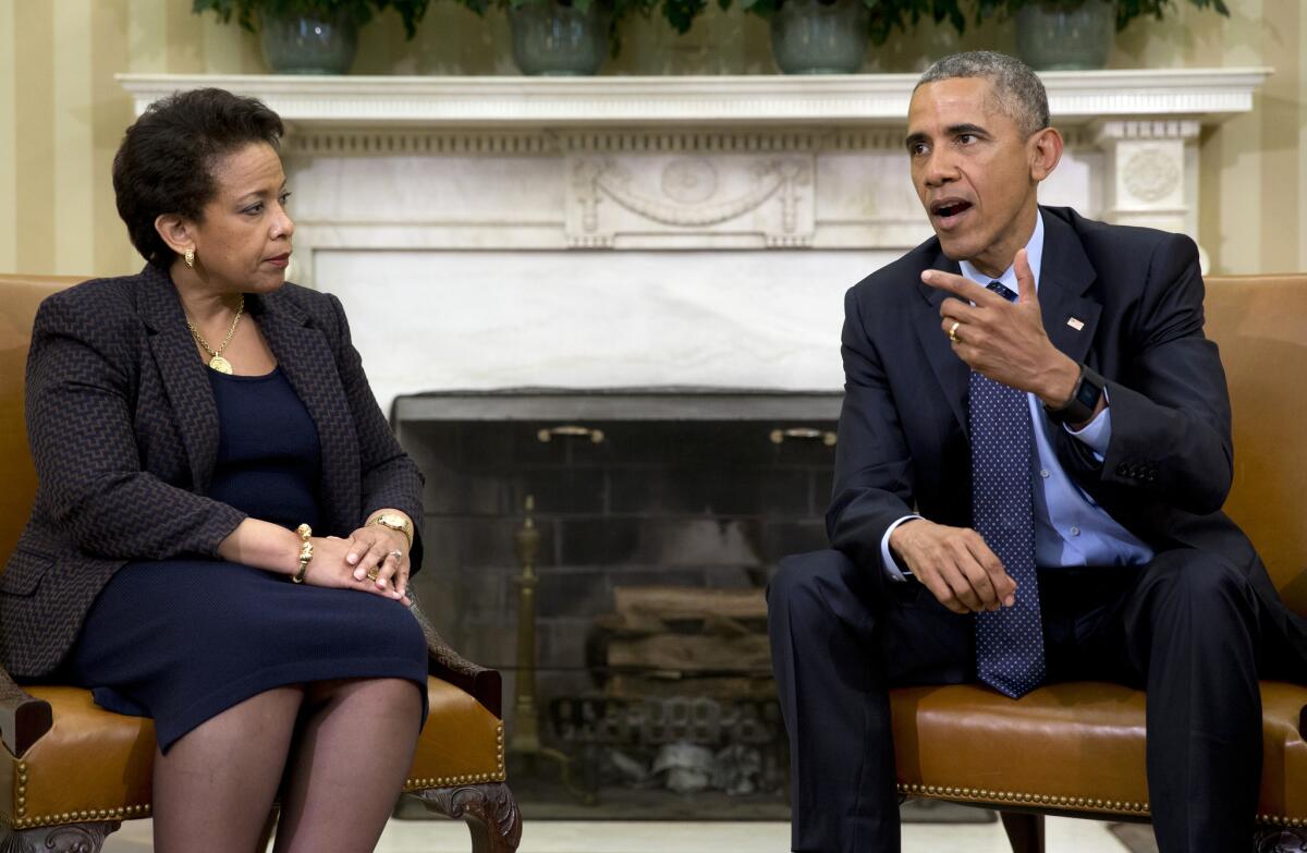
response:
{"label": "face of the man speaking with open mouth", "polygon": [[1034,233],[1040,135],[1026,139],[983,77],[919,86],[907,122],[912,184],[944,254],[1001,275]]}

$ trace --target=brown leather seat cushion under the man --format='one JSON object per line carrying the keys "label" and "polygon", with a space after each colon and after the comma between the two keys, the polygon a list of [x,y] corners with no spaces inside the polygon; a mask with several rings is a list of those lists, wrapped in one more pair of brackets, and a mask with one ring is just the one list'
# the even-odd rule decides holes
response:
{"label": "brown leather seat cushion under the man", "polygon": [[[1098,682],[1019,700],[972,684],[891,691],[899,792],[1146,818],[1144,692]],[[1263,682],[1259,814],[1307,820],[1307,687]]]}

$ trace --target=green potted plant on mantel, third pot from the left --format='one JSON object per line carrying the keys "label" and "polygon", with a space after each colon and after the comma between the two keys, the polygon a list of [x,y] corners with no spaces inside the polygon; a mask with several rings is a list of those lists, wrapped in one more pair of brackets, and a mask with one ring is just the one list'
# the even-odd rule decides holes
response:
{"label": "green potted plant on mantel, third pot from the left", "polygon": [[884,44],[923,17],[959,33],[966,22],[959,0],[740,0],[740,7],[771,22],[771,54],[787,75],[851,75],[863,67],[868,41]]}

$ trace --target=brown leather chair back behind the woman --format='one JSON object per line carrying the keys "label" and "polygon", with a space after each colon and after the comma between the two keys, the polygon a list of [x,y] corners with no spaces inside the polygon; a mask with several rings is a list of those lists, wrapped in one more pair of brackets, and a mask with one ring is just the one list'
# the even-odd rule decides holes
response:
{"label": "brown leather chair back behind the woman", "polygon": [[85,281],[76,276],[0,276],[0,572],[31,514],[37,472],[27,449],[22,390],[31,322],[41,301]]}

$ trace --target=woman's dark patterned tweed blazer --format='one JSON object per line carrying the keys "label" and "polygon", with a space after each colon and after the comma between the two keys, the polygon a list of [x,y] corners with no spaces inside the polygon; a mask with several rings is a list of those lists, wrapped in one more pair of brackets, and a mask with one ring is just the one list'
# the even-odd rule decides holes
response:
{"label": "woman's dark patterned tweed blazer", "polygon": [[[422,478],[367,386],[340,301],[294,284],[247,296],[318,427],[325,529],[349,535],[383,506],[422,517]],[[38,488],[0,576],[9,672],[51,674],[124,563],[217,556],[244,518],[205,497],[218,415],[167,272],[98,279],[42,302],[27,355],[27,437]],[[421,565],[421,542],[410,561]]]}

